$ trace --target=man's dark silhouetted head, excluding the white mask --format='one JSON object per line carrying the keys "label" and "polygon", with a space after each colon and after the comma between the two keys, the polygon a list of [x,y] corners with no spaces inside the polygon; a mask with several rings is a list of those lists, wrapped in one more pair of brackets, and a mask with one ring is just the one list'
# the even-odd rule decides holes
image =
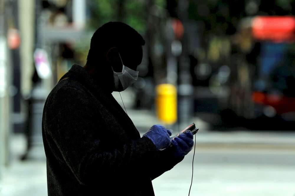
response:
{"label": "man's dark silhouetted head, excluding the white mask", "polygon": [[[142,61],[145,40],[132,27],[122,22],[108,22],[93,34],[87,65],[107,73],[122,71],[123,64],[136,70]],[[120,54],[120,56],[119,56]]]}

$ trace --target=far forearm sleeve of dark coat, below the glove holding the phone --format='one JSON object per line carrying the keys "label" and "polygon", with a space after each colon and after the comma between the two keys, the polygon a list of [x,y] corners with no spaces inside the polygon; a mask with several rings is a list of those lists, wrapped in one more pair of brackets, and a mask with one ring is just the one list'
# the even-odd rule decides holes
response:
{"label": "far forearm sleeve of dark coat, below the glove holding the phone", "polygon": [[151,180],[172,169],[176,164],[184,159],[184,157],[174,157],[172,155],[173,150],[173,147],[169,147],[165,150],[155,152],[155,158],[152,159],[153,162],[151,162],[153,165],[153,167],[151,167],[153,169],[150,171]]}

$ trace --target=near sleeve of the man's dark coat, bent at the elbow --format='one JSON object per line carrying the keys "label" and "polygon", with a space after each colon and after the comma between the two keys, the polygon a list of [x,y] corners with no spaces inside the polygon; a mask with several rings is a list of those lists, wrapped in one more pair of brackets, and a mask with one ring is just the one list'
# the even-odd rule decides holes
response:
{"label": "near sleeve of the man's dark coat, bent at the elbow", "polygon": [[[102,149],[94,127],[93,106],[82,91],[62,87],[54,98],[58,130],[51,133],[60,153],[80,184],[115,177],[116,173],[153,159],[156,147],[148,138],[130,141],[116,149]],[[96,123],[97,124],[97,123]]]}

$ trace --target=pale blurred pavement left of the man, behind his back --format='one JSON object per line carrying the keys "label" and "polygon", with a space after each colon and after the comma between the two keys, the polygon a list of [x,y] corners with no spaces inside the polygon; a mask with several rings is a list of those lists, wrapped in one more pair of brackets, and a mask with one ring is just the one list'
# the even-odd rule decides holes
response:
{"label": "pale blurred pavement left of the man, behind his back", "polygon": [[11,162],[3,167],[0,181],[0,196],[45,196],[47,195],[46,161],[21,161],[26,149],[23,134],[11,136]]}

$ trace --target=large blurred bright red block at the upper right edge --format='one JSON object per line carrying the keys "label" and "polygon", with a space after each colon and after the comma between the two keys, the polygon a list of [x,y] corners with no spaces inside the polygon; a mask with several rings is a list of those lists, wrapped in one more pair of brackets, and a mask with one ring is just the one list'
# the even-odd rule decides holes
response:
{"label": "large blurred bright red block at the upper right edge", "polygon": [[295,18],[291,16],[258,16],[252,21],[253,37],[273,42],[294,41]]}

